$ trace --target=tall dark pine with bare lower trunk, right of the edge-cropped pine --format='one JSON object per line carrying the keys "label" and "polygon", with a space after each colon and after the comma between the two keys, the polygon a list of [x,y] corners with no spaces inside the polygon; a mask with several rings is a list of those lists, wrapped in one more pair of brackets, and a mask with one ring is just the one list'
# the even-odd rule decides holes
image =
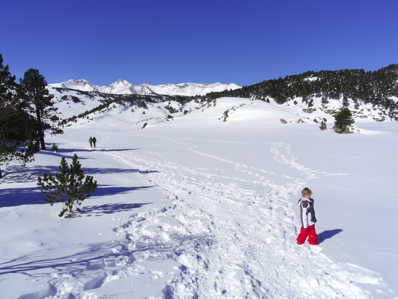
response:
{"label": "tall dark pine with bare lower trunk, right of the edge-cropped pine", "polygon": [[41,149],[46,149],[45,132],[51,135],[62,134],[63,131],[54,125],[59,118],[55,115],[58,108],[54,107],[53,98],[46,89],[47,82],[37,69],[28,69],[23,79],[19,80],[18,95],[23,100],[23,109],[35,119],[34,126],[38,134]]}

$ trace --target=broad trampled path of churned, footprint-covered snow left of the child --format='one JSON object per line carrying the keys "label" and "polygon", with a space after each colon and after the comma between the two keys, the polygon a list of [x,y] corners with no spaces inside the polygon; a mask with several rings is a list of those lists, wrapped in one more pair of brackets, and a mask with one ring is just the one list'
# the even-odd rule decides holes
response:
{"label": "broad trampled path of churned, footprint-covered snow left of the child", "polygon": [[[212,173],[170,161],[160,148],[145,154],[101,152],[132,169],[157,170],[145,173],[145,178],[164,192],[167,205],[134,214],[115,228],[120,249],[114,249],[114,255],[98,269],[87,269],[85,281],[78,276],[56,278],[53,285],[58,297],[54,298],[73,293],[76,298],[96,299],[91,289],[144,273],[144,263],[159,257],[181,264],[179,274],[164,287],[163,298],[167,299],[352,299],[370,297],[361,284],[383,286],[377,274],[350,270],[320,253],[320,246],[296,245],[299,220],[292,194],[321,172],[300,165],[290,145],[267,146],[275,161],[298,170],[297,177],[169,141],[186,147],[193,156],[225,163],[224,169],[231,169],[232,176],[222,169]],[[283,185],[272,182],[272,177],[280,176]],[[244,189],[240,182],[262,184],[263,191]],[[87,281],[90,270],[93,278]],[[163,276],[162,271],[149,274],[154,279]]]}

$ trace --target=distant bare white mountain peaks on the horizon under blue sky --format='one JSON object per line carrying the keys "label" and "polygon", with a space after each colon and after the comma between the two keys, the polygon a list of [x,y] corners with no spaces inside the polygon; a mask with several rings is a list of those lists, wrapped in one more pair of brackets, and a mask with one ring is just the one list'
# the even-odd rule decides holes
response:
{"label": "distant bare white mountain peaks on the horizon under blue sky", "polygon": [[134,85],[126,80],[117,80],[109,86],[98,86],[87,80],[68,80],[63,83],[48,84],[48,87],[56,88],[70,88],[81,91],[98,91],[109,94],[137,94],[137,95],[149,95],[149,94],[160,94],[170,96],[196,96],[205,95],[209,92],[219,92],[223,90],[234,90],[241,86],[234,83],[223,84],[223,83],[180,83],[180,84],[163,84],[163,85],[150,85],[141,84]]}

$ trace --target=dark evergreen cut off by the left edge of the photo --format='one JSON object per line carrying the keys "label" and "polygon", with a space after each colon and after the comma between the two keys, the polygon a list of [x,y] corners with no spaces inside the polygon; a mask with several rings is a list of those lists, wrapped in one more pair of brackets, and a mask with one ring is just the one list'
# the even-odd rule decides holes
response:
{"label": "dark evergreen cut off by the left edge of the photo", "polygon": [[8,65],[2,63],[0,54],[0,166],[13,159],[24,166],[34,159],[39,147],[33,138],[29,115],[19,108],[15,76],[11,76]]}

